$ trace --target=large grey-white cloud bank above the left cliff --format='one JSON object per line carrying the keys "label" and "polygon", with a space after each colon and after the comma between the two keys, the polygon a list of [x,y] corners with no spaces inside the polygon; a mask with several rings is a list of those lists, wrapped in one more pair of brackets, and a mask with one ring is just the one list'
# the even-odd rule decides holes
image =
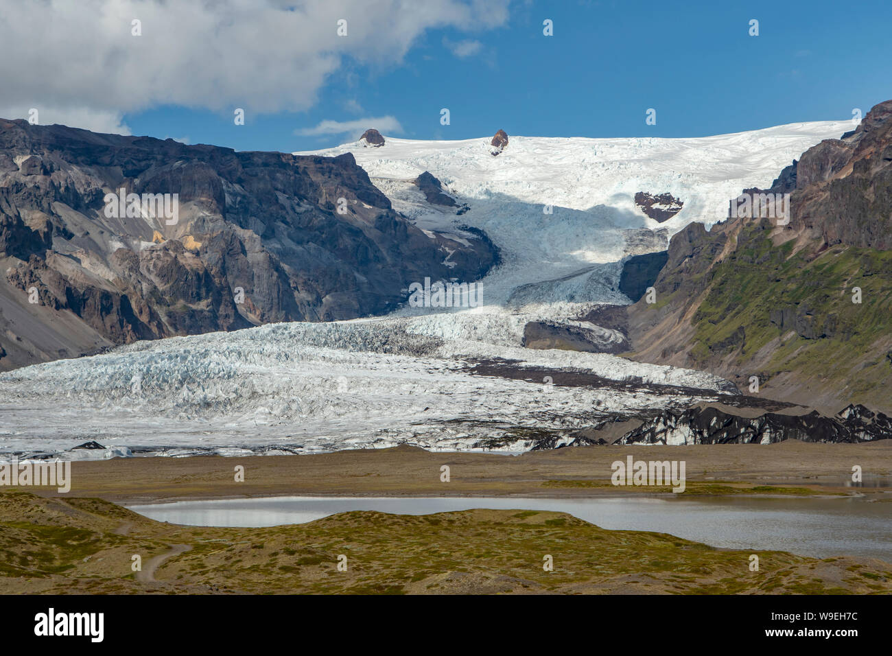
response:
{"label": "large grey-white cloud bank above the left cliff", "polygon": [[161,104],[306,110],[345,58],[398,65],[428,29],[502,25],[508,2],[4,0],[0,112],[37,107],[78,127],[128,131],[124,113]]}

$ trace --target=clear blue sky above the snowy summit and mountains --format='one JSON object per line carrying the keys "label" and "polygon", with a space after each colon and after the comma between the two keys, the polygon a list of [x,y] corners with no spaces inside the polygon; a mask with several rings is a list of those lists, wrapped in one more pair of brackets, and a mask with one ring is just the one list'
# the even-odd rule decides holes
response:
{"label": "clear blue sky above the snowy summit and mountains", "polygon": [[[367,37],[371,41],[384,44],[403,29],[409,10],[394,9],[392,2],[378,8],[383,22]],[[424,12],[425,2],[405,6]],[[437,2],[453,3],[443,11],[454,12],[466,0]],[[226,78],[220,87],[227,91],[219,97],[211,86],[201,97],[147,93],[129,105],[102,106],[95,98],[85,104],[97,112],[119,112],[136,135],[293,151],[359,137],[361,129],[346,127],[339,134],[307,134],[325,120],[380,127],[369,120],[390,117],[401,131],[382,129],[384,134],[422,139],[482,137],[497,129],[551,137],[696,137],[843,120],[853,108],[867,112],[892,98],[888,2],[491,2],[503,12],[491,21],[470,17],[442,25],[419,16],[405,29],[397,54],[379,53],[368,43],[354,52],[351,35],[319,46],[335,48],[338,62],[324,74],[314,73],[318,83],[305,95],[270,98],[268,106],[258,96],[275,95],[272,87],[255,89],[244,102],[237,91],[245,79],[264,76],[273,57],[289,56],[288,44],[278,39],[277,51],[265,60],[263,37],[248,46],[260,48],[253,69],[227,65],[215,71]],[[478,16],[486,15],[483,0],[467,3],[476,5]],[[343,0],[339,10],[350,17],[356,11],[351,6]],[[545,19],[554,23],[552,37],[542,34]],[[752,19],[759,21],[757,37],[748,34]],[[368,20],[353,21],[354,33],[362,22]],[[293,23],[289,35],[296,45],[325,30],[335,31],[327,14]],[[337,52],[341,43],[343,52]],[[227,47],[238,52],[237,45]],[[249,62],[250,57],[245,55]],[[276,74],[276,84],[302,83],[300,69]],[[161,74],[153,73],[153,79],[163,84]],[[165,102],[165,96],[177,102]],[[77,101],[65,97],[70,104]],[[31,102],[16,100],[22,106]],[[251,106],[245,125],[235,126],[233,110],[243,105]],[[450,109],[449,126],[440,123],[443,107]],[[656,125],[645,123],[648,108],[657,110]]]}

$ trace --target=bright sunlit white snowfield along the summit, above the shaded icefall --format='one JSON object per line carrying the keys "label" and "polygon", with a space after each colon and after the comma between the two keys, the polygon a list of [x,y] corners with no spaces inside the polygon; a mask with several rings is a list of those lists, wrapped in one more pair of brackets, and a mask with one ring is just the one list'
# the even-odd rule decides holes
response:
{"label": "bright sunlit white snowfield along the summit, above the shaded icefall", "polygon": [[[295,154],[350,152],[377,181],[410,181],[431,172],[468,199],[505,196],[585,212],[598,205],[635,211],[638,191],[670,192],[685,202],[672,221],[712,223],[727,216],[728,201],[745,187],[767,187],[780,170],[822,139],[851,129],[850,121],[823,120],[714,137],[519,137],[499,157],[490,137],[426,141],[386,137],[380,148],[351,142]],[[637,212],[637,211],[636,211]],[[638,212],[640,214],[640,212]],[[660,224],[641,214],[633,227]]]}

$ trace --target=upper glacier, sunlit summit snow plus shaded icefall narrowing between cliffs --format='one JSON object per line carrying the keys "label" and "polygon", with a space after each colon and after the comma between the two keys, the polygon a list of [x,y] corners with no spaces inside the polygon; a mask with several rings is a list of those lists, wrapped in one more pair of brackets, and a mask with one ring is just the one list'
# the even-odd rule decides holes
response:
{"label": "upper glacier, sunlit summit snow plus shaded icefall narrowing between cliffs", "polygon": [[[544,283],[549,288],[536,300],[547,307],[628,303],[615,286],[619,270],[597,265],[663,250],[666,238],[692,221],[723,220],[743,189],[770,186],[809,147],[847,129],[849,121],[817,121],[693,138],[511,135],[498,157],[491,155],[491,137],[386,137],[378,148],[352,142],[298,154],[353,154],[394,209],[420,228],[459,236],[460,226],[483,229],[504,261],[483,280],[486,303],[505,306],[518,287]],[[413,184],[425,171],[462,206],[460,215],[425,202]],[[669,193],[683,207],[659,223],[635,204],[638,192]],[[570,284],[549,284],[577,272],[584,276]]]}

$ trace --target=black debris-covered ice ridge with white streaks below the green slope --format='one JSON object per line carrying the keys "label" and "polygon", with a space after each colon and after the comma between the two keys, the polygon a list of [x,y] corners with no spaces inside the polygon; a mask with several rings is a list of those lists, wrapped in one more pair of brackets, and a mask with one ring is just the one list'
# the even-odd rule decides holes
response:
{"label": "black debris-covered ice ridge with white streaks below the green slope", "polygon": [[856,443],[892,438],[892,419],[863,405],[849,405],[833,417],[765,412],[747,417],[712,406],[664,411],[622,436],[616,444]]}

